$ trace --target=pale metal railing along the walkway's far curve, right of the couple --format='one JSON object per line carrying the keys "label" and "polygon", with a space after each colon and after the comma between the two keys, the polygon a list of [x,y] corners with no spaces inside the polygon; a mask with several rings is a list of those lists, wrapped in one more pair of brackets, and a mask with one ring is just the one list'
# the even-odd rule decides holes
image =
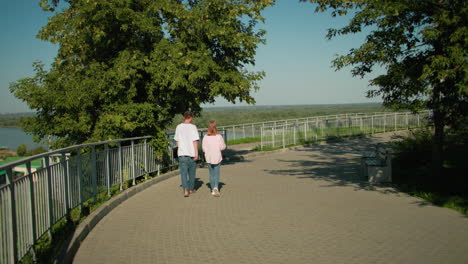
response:
{"label": "pale metal railing along the walkway's far curve, right of the couple", "polygon": [[406,130],[427,125],[429,112],[328,116],[260,128],[260,148],[285,148],[330,137]]}

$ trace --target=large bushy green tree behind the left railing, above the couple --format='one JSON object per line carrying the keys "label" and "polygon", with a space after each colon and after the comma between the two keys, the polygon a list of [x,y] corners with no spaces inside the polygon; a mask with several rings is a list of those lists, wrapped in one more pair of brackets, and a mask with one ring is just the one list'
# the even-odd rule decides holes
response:
{"label": "large bushy green tree behind the left railing, above the couple", "polygon": [[[55,11],[58,0],[41,0]],[[62,1],[63,2],[63,1]],[[176,114],[222,96],[254,103],[263,72],[260,12],[273,0],[67,0],[38,38],[59,45],[50,70],[11,84],[36,110],[22,121],[52,147],[153,135],[164,142]]]}

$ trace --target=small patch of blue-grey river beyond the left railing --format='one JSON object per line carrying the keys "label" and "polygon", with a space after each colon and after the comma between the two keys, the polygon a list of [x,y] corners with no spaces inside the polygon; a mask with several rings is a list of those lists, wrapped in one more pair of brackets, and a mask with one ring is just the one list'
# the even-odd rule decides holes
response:
{"label": "small patch of blue-grey river beyond the left railing", "polygon": [[21,128],[0,127],[0,147],[16,151],[21,144],[26,144],[28,150],[40,146],[33,141],[31,135],[26,134]]}

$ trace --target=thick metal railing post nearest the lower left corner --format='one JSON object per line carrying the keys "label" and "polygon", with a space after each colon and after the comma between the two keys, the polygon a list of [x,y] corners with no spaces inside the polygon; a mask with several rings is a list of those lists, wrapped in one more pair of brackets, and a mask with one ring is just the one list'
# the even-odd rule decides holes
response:
{"label": "thick metal railing post nearest the lower left corner", "polygon": [[[18,261],[18,226],[16,221],[16,198],[15,198],[15,184],[13,177],[13,169],[8,168],[6,171],[6,184],[10,189],[10,261],[16,263]],[[8,225],[7,225],[8,226]],[[8,230],[8,229],[7,229]]]}

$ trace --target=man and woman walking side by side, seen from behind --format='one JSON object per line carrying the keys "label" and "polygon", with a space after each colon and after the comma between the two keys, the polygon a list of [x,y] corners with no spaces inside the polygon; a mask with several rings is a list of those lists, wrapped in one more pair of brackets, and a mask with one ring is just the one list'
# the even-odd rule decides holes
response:
{"label": "man and woman walking side by side, seen from behind", "polygon": [[[195,190],[195,169],[198,160],[198,135],[197,127],[192,124],[193,114],[184,113],[184,122],[177,125],[174,140],[177,142],[177,156],[182,178],[184,196],[188,197]],[[208,123],[208,132],[203,137],[202,149],[210,172],[211,194],[219,197],[219,169],[221,166],[221,151],[226,148],[223,137],[218,134],[216,122]]]}

